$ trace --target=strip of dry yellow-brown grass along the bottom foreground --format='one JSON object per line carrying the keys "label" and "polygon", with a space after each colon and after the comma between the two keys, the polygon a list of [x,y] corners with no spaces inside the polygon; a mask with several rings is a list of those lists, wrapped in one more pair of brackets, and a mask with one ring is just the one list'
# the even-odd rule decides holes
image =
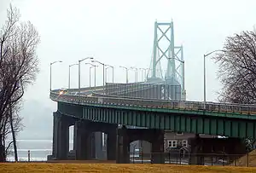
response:
{"label": "strip of dry yellow-brown grass along the bottom foreground", "polygon": [[0,172],[256,172],[256,168],[172,164],[0,164]]}

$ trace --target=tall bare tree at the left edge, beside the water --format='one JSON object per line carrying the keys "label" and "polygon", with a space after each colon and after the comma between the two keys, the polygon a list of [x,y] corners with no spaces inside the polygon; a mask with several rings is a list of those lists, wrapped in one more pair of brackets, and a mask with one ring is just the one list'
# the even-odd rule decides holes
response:
{"label": "tall bare tree at the left edge, beside the water", "polygon": [[5,160],[5,138],[14,125],[10,107],[20,101],[27,84],[38,73],[36,48],[38,32],[29,21],[20,22],[20,12],[11,5],[7,20],[0,30],[0,162]]}

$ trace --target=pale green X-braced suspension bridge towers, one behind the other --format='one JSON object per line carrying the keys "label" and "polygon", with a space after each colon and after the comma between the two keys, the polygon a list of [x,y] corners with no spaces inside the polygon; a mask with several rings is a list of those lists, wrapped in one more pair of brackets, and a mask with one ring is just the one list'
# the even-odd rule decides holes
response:
{"label": "pale green X-braced suspension bridge towers, one behind the other", "polygon": [[[162,70],[160,63],[167,65]],[[165,73],[165,78],[163,78]],[[173,21],[154,22],[153,55],[148,69],[147,80],[179,86],[181,99],[185,100],[183,45],[174,44]]]}

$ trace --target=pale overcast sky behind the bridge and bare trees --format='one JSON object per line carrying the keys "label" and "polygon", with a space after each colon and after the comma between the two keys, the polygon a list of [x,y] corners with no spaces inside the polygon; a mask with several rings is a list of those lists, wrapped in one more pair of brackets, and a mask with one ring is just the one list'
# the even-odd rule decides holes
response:
{"label": "pale overcast sky behind the bridge and bare trees", "polygon": [[[25,99],[53,108],[55,104],[49,100],[50,62],[63,61],[53,66],[53,89],[67,88],[68,65],[87,56],[116,66],[115,82],[125,82],[125,71],[118,66],[149,67],[155,20],[173,20],[175,44],[183,44],[187,99],[202,101],[203,54],[221,49],[225,37],[252,30],[256,22],[253,0],[0,0],[1,24],[9,2],[20,9],[21,20],[32,21],[41,36],[40,73],[36,83],[28,87]],[[89,66],[84,63],[82,87],[89,85]],[[215,101],[221,87],[217,69],[209,58],[207,101]],[[78,66],[73,66],[71,73],[71,87],[78,88]],[[97,74],[97,84],[102,84],[102,68]],[[129,79],[134,80],[133,73]]]}

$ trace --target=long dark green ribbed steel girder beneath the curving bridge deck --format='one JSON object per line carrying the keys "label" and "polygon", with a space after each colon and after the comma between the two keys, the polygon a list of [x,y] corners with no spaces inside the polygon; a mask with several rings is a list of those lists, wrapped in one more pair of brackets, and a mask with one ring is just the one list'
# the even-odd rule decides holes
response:
{"label": "long dark green ribbed steel girder beneath the curving bridge deck", "polygon": [[61,113],[96,122],[214,136],[256,138],[256,120],[196,115],[194,113],[184,114],[183,112],[159,112],[156,109],[148,111],[142,108],[74,106],[58,103],[58,111]]}

